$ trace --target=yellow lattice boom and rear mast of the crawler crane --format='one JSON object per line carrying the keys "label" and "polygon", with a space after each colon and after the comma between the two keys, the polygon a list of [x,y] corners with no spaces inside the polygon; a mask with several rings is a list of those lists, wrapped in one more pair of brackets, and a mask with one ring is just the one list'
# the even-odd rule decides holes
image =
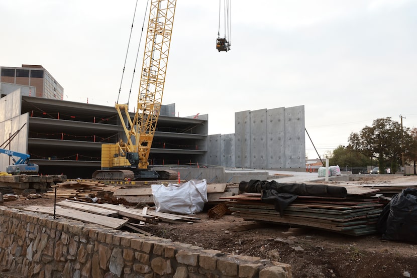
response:
{"label": "yellow lattice boom and rear mast of the crawler crane", "polygon": [[[148,167],[148,157],[162,104],[176,0],[152,0],[139,87],[138,108],[130,119],[127,104],[116,104],[128,141],[123,153],[139,154],[138,168]],[[127,114],[126,126],[122,111]]]}

